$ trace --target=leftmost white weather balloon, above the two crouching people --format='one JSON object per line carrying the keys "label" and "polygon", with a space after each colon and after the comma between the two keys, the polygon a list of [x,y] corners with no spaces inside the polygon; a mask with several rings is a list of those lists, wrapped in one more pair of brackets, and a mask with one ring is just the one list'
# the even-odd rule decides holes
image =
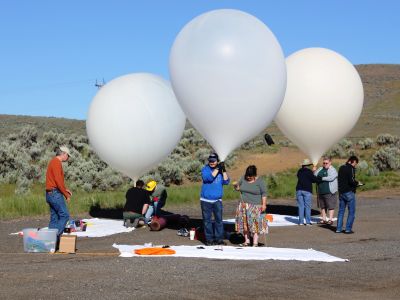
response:
{"label": "leftmost white weather balloon, above the two crouching people", "polygon": [[118,77],[99,90],[86,130],[100,158],[134,179],[168,156],[185,121],[169,82],[137,73]]}

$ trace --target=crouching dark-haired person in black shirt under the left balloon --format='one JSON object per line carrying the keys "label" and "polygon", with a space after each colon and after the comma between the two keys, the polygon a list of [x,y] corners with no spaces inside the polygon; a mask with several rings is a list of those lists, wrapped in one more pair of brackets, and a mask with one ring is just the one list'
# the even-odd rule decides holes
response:
{"label": "crouching dark-haired person in black shirt under the left balloon", "polygon": [[136,181],[136,186],[130,188],[125,195],[126,203],[124,206],[124,220],[133,220],[133,227],[144,225],[147,209],[150,205],[150,195],[143,189],[144,182]]}

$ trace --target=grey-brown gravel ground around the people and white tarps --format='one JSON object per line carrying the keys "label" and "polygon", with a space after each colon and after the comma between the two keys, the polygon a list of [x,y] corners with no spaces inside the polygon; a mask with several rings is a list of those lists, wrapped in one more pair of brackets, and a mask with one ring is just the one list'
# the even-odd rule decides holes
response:
{"label": "grey-brown gravel ground around the people and white tarps", "polygon": [[[112,247],[200,244],[175,229],[79,238],[77,254],[27,254],[22,238],[9,233],[46,226],[47,217],[2,221],[0,299],[400,299],[400,190],[360,194],[357,201],[353,235],[318,225],[274,227],[268,235],[269,247],[349,259],[336,263],[121,258]],[[235,201],[224,207],[224,217],[233,216]],[[296,213],[294,200],[271,200],[268,209]],[[200,219],[198,206],[175,212]]]}

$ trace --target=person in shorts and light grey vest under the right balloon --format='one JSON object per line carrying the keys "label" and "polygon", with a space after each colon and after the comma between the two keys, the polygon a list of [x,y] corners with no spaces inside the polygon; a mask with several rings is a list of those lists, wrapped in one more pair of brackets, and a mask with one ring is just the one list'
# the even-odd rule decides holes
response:
{"label": "person in shorts and light grey vest under the right balloon", "polygon": [[[338,190],[338,184],[337,171],[332,166],[330,157],[324,157],[322,159],[322,167],[316,170],[314,175],[318,178],[317,201],[321,209],[321,221],[319,221],[319,224],[332,225],[337,202],[336,192]],[[326,219],[327,214],[329,215],[329,220]]]}

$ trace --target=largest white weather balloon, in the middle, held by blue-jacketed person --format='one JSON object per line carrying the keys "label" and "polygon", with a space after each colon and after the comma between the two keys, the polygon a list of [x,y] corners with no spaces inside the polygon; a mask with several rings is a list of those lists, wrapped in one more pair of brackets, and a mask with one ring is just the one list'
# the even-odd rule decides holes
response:
{"label": "largest white weather balloon, in the middle, held by blue-jacketed person", "polygon": [[260,133],[282,104],[286,66],[274,34],[238,10],[202,14],[178,34],[170,54],[175,95],[220,158]]}

